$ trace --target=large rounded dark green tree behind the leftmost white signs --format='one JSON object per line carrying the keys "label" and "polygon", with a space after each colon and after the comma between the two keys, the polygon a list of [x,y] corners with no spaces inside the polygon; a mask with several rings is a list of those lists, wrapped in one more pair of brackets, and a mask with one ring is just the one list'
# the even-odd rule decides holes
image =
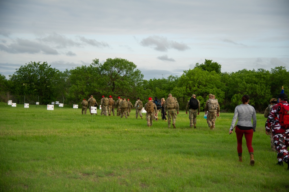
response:
{"label": "large rounded dark green tree behind the leftmost white signs", "polygon": [[10,77],[15,89],[13,94],[18,95],[38,95],[42,97],[43,103],[54,100],[53,85],[57,82],[56,78],[59,70],[51,68],[47,62],[29,62]]}

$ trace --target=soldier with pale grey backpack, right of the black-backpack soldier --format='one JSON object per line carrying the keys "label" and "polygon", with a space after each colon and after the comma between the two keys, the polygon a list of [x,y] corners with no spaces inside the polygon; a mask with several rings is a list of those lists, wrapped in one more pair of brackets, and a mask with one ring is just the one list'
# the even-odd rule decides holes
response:
{"label": "soldier with pale grey backpack, right of the black-backpack soldier", "polygon": [[211,96],[205,105],[205,114],[208,114],[207,123],[210,129],[213,130],[215,128],[216,118],[220,115],[220,106],[214,95]]}

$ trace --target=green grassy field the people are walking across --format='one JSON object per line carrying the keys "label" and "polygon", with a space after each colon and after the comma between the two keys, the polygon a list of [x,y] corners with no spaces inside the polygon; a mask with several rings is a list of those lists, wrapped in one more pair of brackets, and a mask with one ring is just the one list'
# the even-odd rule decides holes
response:
{"label": "green grassy field the people are walking across", "polygon": [[[255,166],[243,139],[238,162],[233,113],[210,130],[185,111],[176,129],[159,120],[81,115],[81,109],[0,103],[0,191],[289,191],[289,171],[277,163],[257,114]],[[99,111],[100,114],[100,111]],[[144,115],[145,116],[145,115]]]}

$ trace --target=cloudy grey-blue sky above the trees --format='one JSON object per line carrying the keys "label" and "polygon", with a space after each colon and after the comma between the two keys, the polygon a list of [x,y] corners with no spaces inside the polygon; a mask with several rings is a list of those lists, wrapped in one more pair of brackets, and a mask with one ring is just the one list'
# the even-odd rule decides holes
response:
{"label": "cloudy grey-blue sky above the trees", "polygon": [[180,76],[205,59],[222,72],[289,70],[288,10],[288,0],[0,0],[0,73],[115,57],[144,79]]}

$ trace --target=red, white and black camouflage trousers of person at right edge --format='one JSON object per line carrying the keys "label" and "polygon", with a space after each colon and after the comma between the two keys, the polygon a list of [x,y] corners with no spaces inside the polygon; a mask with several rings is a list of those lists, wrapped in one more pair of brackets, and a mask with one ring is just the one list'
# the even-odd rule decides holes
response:
{"label": "red, white and black camouflage trousers of person at right edge", "polygon": [[277,150],[277,160],[286,161],[288,158],[288,146],[289,146],[289,129],[285,133],[273,133],[273,139],[275,149]]}

